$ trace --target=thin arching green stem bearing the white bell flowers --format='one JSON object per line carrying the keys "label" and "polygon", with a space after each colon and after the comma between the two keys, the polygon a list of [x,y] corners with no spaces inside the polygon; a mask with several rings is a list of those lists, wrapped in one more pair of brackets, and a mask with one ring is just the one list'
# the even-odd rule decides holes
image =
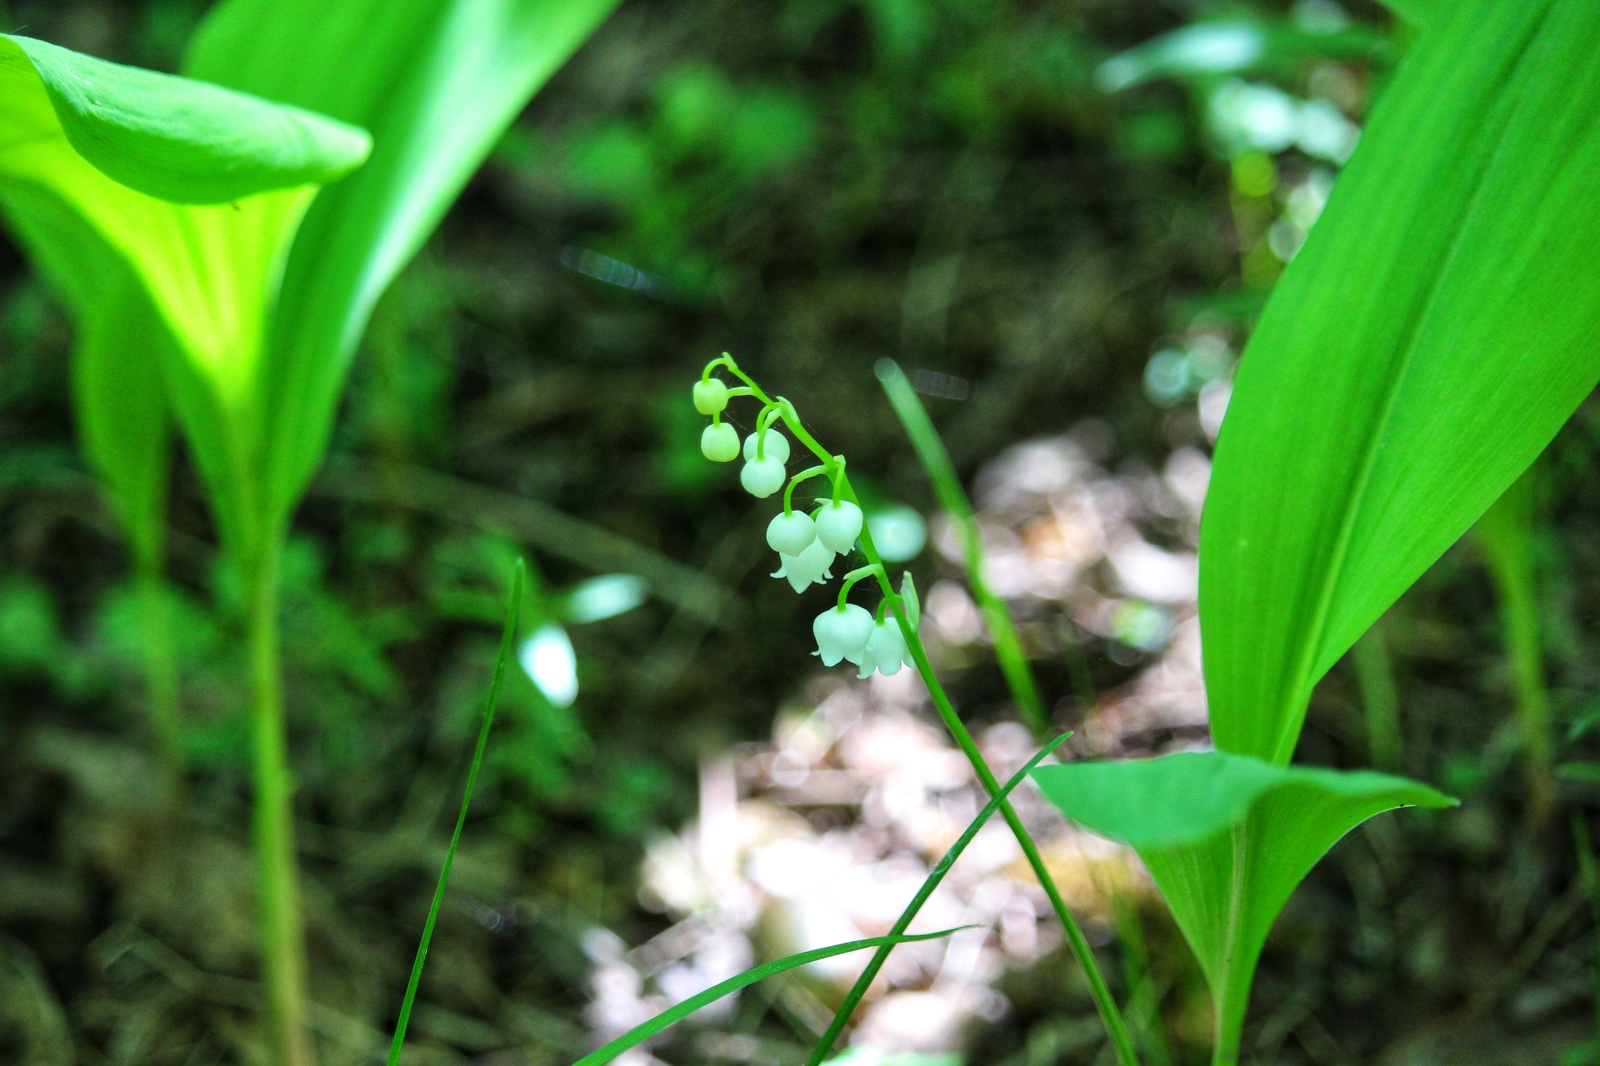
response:
{"label": "thin arching green stem bearing the white bell flowers", "polygon": [[[726,352],[722,359],[712,360],[710,365],[726,367],[730,373],[750,387],[750,394],[755,399],[762,403],[773,403],[762,387],[755,384],[755,381],[752,381],[742,370],[739,370],[738,363],[734,363],[733,357]],[[856,498],[856,491],[850,485],[850,479],[843,475],[843,471],[840,471],[843,461],[830,455],[816,442],[816,437],[806,432],[806,427],[800,424],[800,416],[795,413],[795,408],[789,400],[779,399],[778,403],[781,405],[782,419],[789,427],[789,432],[794,434],[795,440],[811,450],[822,466],[829,469],[830,475],[837,477],[835,487],[843,498],[859,507],[861,501]],[[882,568],[883,557],[878,555],[877,547],[872,544],[872,531],[866,527],[861,530],[861,551],[866,554],[869,563],[880,568],[877,571],[877,578],[883,595],[894,595],[894,587],[890,584],[888,571]],[[922,674],[923,683],[928,685],[928,695],[933,698],[933,706],[944,720],[944,727],[950,731],[950,738],[955,739],[962,754],[966,755],[966,760],[973,765],[973,773],[978,775],[984,791],[989,792],[989,795],[995,795],[1000,791],[1000,783],[995,779],[989,763],[984,762],[982,752],[978,751],[978,741],[973,739],[966,723],[955,714],[950,698],[946,695],[944,687],[939,683],[939,677],[933,672],[933,664],[928,661],[928,650],[922,645],[922,639],[906,618],[904,607],[899,602],[894,602],[890,605],[890,610],[894,611],[894,621],[901,627],[901,635],[906,639],[906,647],[910,650],[912,661],[917,664],[917,672]],[[1106,984],[1106,975],[1101,973],[1088,940],[1083,936],[1083,930],[1078,927],[1077,919],[1072,917],[1072,911],[1067,909],[1066,900],[1061,898],[1061,890],[1056,888],[1054,879],[1051,879],[1050,871],[1045,868],[1045,860],[1040,856],[1038,847],[1034,844],[1034,837],[1027,832],[1027,826],[1022,824],[1021,818],[1018,818],[1011,804],[1003,804],[1000,807],[1000,815],[1005,818],[1006,826],[1011,828],[1013,836],[1016,836],[1016,842],[1022,848],[1022,855],[1027,856],[1027,864],[1034,869],[1034,876],[1038,877],[1040,887],[1043,887],[1045,895],[1050,898],[1050,906],[1056,911],[1056,917],[1061,920],[1061,927],[1067,935],[1072,954],[1077,957],[1078,965],[1083,967],[1083,975],[1090,983],[1090,994],[1094,997],[1094,1005],[1099,1008],[1101,1020],[1106,1023],[1106,1032],[1110,1036],[1112,1045],[1117,1050],[1117,1061],[1122,1066],[1138,1066],[1139,1060],[1133,1052],[1133,1040],[1128,1036],[1128,1024],[1122,1018],[1122,1010],[1118,1010],[1117,1000],[1112,997],[1110,988]]]}

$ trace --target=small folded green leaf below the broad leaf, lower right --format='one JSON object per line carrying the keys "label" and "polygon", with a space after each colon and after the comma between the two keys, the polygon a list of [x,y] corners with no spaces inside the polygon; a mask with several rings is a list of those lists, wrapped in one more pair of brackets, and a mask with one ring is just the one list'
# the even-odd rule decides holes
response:
{"label": "small folded green leaf below the broad leaf, lower right", "polygon": [[1328,848],[1386,810],[1454,804],[1386,773],[1219,751],[1040,767],[1034,779],[1067,818],[1139,853],[1218,997],[1224,1031],[1243,1018],[1272,922]]}

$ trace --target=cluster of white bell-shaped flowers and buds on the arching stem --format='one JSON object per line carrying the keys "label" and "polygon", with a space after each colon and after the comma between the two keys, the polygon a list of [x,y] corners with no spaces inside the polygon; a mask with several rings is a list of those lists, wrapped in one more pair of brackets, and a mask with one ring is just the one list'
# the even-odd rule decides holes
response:
{"label": "cluster of white bell-shaped flowers and buds on the arching stem", "polygon": [[[694,383],[694,410],[712,419],[701,434],[701,453],[714,463],[731,463],[742,456],[739,483],[760,499],[773,496],[789,485],[789,491],[784,493],[784,509],[766,525],[766,543],[778,552],[774,578],[787,579],[795,592],[832,579],[834,559],[854,551],[864,525],[861,507],[840,498],[843,458],[832,456],[824,466],[802,471],[794,475],[790,483],[787,469],[790,443],[774,426],[786,416],[794,416],[794,408],[782,397],[765,403],[755,432],[749,434],[741,447],[738,431],[722,421],[722,413],[728,408],[730,399],[760,395],[760,392],[754,384],[730,389],[726,383],[710,376],[710,371],[718,365],[726,365],[744,378],[731,357],[725,354],[722,359],[712,360],[701,379]],[[749,378],[744,379],[749,381]],[[763,395],[760,399],[765,400]],[[832,498],[819,501],[810,514],[790,506],[794,487],[808,477],[829,477],[834,483]],[[818,650],[813,655],[819,655],[826,666],[850,661],[861,667],[861,677],[869,677],[874,672],[891,675],[898,674],[901,666],[914,666],[899,624],[893,616],[885,615],[883,607],[874,618],[872,611],[864,607],[845,602],[850,586],[877,570],[877,567],[866,567],[846,575],[838,605],[816,616],[811,632],[816,637]],[[907,621],[915,627],[915,597],[906,599],[904,603]]]}

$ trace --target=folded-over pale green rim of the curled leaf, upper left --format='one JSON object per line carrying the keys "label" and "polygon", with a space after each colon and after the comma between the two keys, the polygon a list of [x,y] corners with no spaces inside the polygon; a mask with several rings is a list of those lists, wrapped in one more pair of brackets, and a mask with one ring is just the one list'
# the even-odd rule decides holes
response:
{"label": "folded-over pale green rim of the curled leaf, upper left", "polygon": [[61,133],[88,163],[162,200],[226,203],[326,184],[371,150],[365,131],[299,107],[0,37],[0,109],[26,109],[30,82],[45,90]]}

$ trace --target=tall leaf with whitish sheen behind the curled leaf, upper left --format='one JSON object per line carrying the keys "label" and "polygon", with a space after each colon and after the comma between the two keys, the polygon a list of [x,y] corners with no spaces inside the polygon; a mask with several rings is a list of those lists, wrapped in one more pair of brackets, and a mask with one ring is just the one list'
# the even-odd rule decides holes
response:
{"label": "tall leaf with whitish sheen behind the curled leaf, upper left", "polygon": [[373,304],[528,98],[618,0],[229,0],[187,72],[373,131],[290,254],[256,456],[275,520],[322,463]]}

